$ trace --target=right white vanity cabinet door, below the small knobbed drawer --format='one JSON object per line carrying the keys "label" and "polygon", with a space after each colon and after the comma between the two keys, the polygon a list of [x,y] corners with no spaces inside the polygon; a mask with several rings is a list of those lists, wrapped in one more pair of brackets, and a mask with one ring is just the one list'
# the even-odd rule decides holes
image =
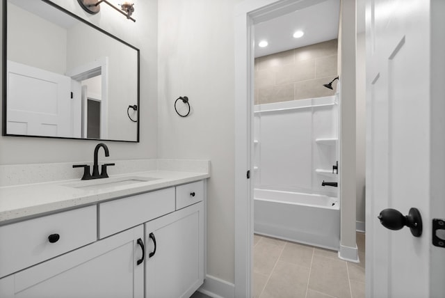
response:
{"label": "right white vanity cabinet door, below the small knobbed drawer", "polygon": [[190,297],[204,282],[204,203],[149,221],[145,243],[147,298]]}

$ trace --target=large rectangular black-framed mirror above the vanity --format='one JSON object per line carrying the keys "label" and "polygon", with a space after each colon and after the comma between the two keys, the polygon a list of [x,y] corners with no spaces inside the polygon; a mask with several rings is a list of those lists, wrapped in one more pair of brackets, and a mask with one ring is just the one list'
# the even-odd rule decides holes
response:
{"label": "large rectangular black-framed mirror above the vanity", "polygon": [[3,135],[139,141],[136,47],[47,0],[3,18]]}

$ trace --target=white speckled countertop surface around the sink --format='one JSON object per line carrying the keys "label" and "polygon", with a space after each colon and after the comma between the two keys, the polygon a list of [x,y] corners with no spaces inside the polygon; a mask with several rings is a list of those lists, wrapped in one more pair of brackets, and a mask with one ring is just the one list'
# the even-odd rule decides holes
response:
{"label": "white speckled countertop surface around the sink", "polygon": [[[146,191],[163,189],[188,182],[209,178],[209,173],[191,173],[185,171],[145,171],[110,175],[110,178],[97,180],[58,180],[56,182],[33,183],[0,187],[0,225],[13,221],[35,217],[49,212],[92,205],[114,198],[131,196]],[[122,178],[122,179],[119,179]],[[138,178],[156,178],[150,181],[134,181],[129,185],[112,185],[89,189],[79,187],[90,183],[104,183],[105,180],[138,180]],[[99,182],[99,180],[101,180]]]}

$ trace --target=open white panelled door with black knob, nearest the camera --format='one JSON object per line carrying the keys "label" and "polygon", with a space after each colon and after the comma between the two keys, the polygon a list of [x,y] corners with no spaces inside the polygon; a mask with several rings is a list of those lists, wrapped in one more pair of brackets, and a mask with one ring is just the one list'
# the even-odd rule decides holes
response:
{"label": "open white panelled door with black knob, nearest the camera", "polygon": [[[432,217],[444,206],[435,185],[437,163],[445,155],[443,138],[435,139],[435,26],[426,0],[366,0],[366,297],[445,297],[445,249],[432,246]],[[442,2],[442,3],[440,3]],[[437,13],[437,11],[435,12]],[[442,22],[442,21],[440,21]],[[434,29],[434,30],[433,30]],[[443,28],[437,28],[442,31]],[[442,34],[443,35],[443,34]],[[432,37],[431,37],[432,36]],[[437,60],[435,60],[437,58]],[[441,75],[437,73],[437,75]],[[444,71],[439,81],[445,79]],[[442,118],[444,111],[441,111]],[[437,127],[444,134],[444,127]],[[435,150],[442,152],[435,155]],[[440,157],[440,159],[436,159]],[[443,166],[443,165],[441,165]],[[439,168],[439,167],[437,167]],[[437,173],[443,170],[439,170]],[[443,188],[443,187],[442,187]],[[442,193],[441,193],[442,191]],[[435,201],[434,194],[441,197]],[[380,224],[382,210],[421,213],[423,232],[389,230]],[[445,217],[445,209],[442,210]],[[442,253],[442,256],[440,254]],[[439,256],[439,257],[437,257]],[[439,281],[439,282],[437,282]]]}

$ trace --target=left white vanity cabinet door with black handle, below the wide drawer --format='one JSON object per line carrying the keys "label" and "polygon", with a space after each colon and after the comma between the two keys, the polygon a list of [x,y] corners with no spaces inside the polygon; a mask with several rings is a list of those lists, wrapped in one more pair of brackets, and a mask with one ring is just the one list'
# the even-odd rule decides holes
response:
{"label": "left white vanity cabinet door with black handle, below the wide drawer", "polygon": [[142,298],[144,265],[137,262],[143,235],[143,226],[137,226],[6,276],[0,279],[0,297]]}

